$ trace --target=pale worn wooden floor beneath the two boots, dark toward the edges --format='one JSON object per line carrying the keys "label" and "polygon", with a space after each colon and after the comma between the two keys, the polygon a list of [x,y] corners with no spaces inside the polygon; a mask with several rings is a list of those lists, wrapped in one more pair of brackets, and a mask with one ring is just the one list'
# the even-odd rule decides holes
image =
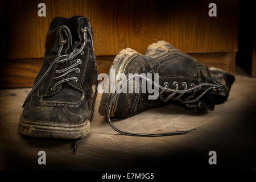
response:
{"label": "pale worn wooden floor beneath the two boots, dark toward the edges", "polygon": [[[0,90],[0,169],[256,169],[256,78],[237,68],[227,102],[214,111],[195,115],[168,105],[127,119],[115,119],[126,131],[168,132],[196,128],[190,134],[140,138],[117,134],[98,114],[92,134],[73,154],[73,140],[23,137],[17,133],[22,104],[30,89]],[[46,151],[46,165],[38,151]],[[208,152],[217,152],[217,165]]]}

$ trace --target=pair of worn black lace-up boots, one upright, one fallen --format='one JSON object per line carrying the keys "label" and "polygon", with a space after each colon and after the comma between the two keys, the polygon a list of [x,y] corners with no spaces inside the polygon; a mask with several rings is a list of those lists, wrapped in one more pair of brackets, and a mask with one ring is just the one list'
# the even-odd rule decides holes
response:
{"label": "pair of worn black lace-up boots, one upright, one fallen", "polygon": [[[196,112],[213,110],[228,98],[234,76],[221,69],[200,64],[164,41],[148,46],[146,55],[133,49],[123,49],[112,67],[116,74],[138,73],[143,80],[159,89],[159,97],[148,99],[150,93],[119,93],[128,80],[115,79],[121,85],[115,93],[103,93],[99,113],[106,115],[110,125],[119,133],[134,136],[166,136],[185,134],[177,131],[163,134],[135,134],[118,130],[110,117],[125,118],[146,109],[170,102],[192,108]],[[157,74],[156,80],[147,74]],[[92,85],[96,75],[96,89]],[[154,76],[153,76],[154,77]],[[109,86],[110,85],[109,80]],[[97,97],[97,63],[93,49],[93,31],[88,18],[53,19],[46,39],[44,64],[35,79],[34,87],[24,102],[18,132],[31,137],[76,139],[90,133]]]}

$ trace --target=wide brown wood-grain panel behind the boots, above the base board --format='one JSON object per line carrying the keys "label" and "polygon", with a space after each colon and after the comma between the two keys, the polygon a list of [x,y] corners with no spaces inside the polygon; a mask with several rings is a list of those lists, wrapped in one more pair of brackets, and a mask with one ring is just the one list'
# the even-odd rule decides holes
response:
{"label": "wide brown wood-grain panel behind the boots, above the base board", "polygon": [[[38,3],[46,3],[46,17]],[[131,47],[144,53],[156,40],[183,52],[236,52],[239,1],[214,1],[217,17],[208,16],[211,1],[8,1],[9,59],[42,58],[49,24],[55,16],[88,16],[97,56]]]}

